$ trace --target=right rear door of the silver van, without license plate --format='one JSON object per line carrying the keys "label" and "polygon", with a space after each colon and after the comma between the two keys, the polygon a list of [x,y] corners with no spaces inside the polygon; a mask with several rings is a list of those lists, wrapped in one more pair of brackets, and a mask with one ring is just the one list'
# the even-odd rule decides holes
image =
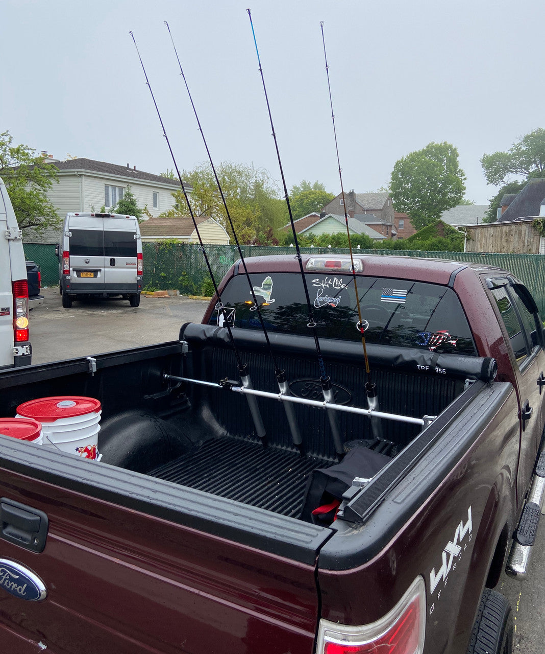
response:
{"label": "right rear door of the silver van, without license plate", "polygon": [[136,293],[136,218],[104,218],[104,282],[110,292]]}

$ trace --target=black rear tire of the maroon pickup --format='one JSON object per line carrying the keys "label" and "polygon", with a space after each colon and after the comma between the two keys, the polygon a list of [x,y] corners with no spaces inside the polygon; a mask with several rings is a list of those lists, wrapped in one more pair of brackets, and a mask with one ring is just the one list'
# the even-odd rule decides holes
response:
{"label": "black rear tire of the maroon pickup", "polygon": [[484,589],[467,654],[512,654],[513,616],[509,600]]}

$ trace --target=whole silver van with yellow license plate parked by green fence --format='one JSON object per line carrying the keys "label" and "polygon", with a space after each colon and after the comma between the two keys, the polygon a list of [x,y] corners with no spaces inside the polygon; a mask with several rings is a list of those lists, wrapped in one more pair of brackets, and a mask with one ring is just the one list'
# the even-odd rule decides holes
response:
{"label": "whole silver van with yellow license plate parked by green fence", "polygon": [[57,256],[65,309],[90,297],[140,304],[144,262],[135,216],[67,213]]}

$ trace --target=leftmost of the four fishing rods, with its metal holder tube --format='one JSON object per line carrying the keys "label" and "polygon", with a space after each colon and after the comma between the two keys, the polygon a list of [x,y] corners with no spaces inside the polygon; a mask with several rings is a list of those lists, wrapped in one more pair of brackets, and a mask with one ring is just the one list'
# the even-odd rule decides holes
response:
{"label": "leftmost of the four fishing rods, with its metal holder tube", "polygon": [[[152,86],[150,84],[150,80],[148,79],[148,74],[146,73],[146,69],[144,67],[144,62],[142,61],[142,57],[140,56],[140,51],[138,49],[136,40],[135,40],[135,35],[132,33],[132,31],[129,31],[129,34],[131,35],[133,39],[133,43],[135,44],[135,48],[137,50],[138,58],[140,60],[140,65],[142,66],[142,71],[144,73],[144,77],[146,78],[146,84],[148,86],[148,89],[150,90],[150,95],[152,96],[152,100],[155,105],[155,109],[157,112],[157,118],[159,118],[159,123],[161,124],[161,128],[163,129],[163,136],[165,137],[165,141],[167,141],[167,145],[169,147],[169,152],[171,153],[171,158],[173,160],[174,164],[174,169],[176,169],[176,175],[178,175],[178,179],[180,180],[180,185],[182,186],[182,192],[184,194],[184,198],[186,199],[186,204],[188,205],[188,211],[190,212],[191,220],[193,221],[193,226],[195,228],[195,232],[197,233],[197,238],[199,239],[199,245],[201,246],[201,252],[203,252],[203,257],[205,258],[206,262],[206,267],[208,268],[208,274],[210,275],[210,279],[212,280],[212,285],[214,286],[214,292],[216,293],[216,297],[218,298],[218,303],[216,304],[216,308],[218,311],[222,311],[223,313],[223,324],[225,324],[225,327],[227,328],[227,332],[229,334],[229,340],[231,341],[231,345],[233,345],[233,351],[235,352],[235,358],[237,360],[237,368],[239,370],[239,375],[240,375],[240,381],[242,381],[242,386],[246,388],[253,388],[252,387],[252,380],[250,379],[250,373],[248,371],[248,364],[242,363],[242,359],[240,358],[240,353],[237,349],[237,345],[235,343],[235,337],[233,337],[233,332],[231,331],[231,326],[229,325],[229,320],[227,317],[227,312],[225,311],[225,307],[222,302],[222,297],[220,296],[220,291],[218,289],[218,284],[216,283],[216,279],[214,277],[214,272],[212,271],[212,266],[210,265],[210,260],[208,259],[208,255],[206,254],[206,249],[205,249],[205,244],[203,243],[203,239],[201,238],[201,232],[199,231],[199,226],[197,225],[197,220],[195,220],[195,215],[193,214],[193,209],[191,209],[191,203],[190,199],[188,198],[188,194],[186,192],[186,187],[184,186],[184,181],[182,180],[182,175],[180,174],[180,169],[178,168],[178,163],[176,163],[176,158],[174,157],[174,152],[173,148],[171,146],[171,143],[169,141],[169,137],[167,136],[167,130],[165,129],[165,125],[163,124],[163,119],[161,118],[161,113],[159,112],[159,107],[157,107],[157,102],[155,99],[154,92],[152,91]],[[252,419],[254,420],[254,426],[256,427],[256,434],[259,436],[261,439],[261,443],[265,445],[265,438],[267,436],[265,432],[265,426],[263,425],[263,419],[261,419],[261,413],[259,413],[259,407],[257,406],[257,401],[254,396],[247,396],[248,399],[248,405],[250,407],[250,413],[252,414]],[[252,402],[250,402],[250,399]]]}

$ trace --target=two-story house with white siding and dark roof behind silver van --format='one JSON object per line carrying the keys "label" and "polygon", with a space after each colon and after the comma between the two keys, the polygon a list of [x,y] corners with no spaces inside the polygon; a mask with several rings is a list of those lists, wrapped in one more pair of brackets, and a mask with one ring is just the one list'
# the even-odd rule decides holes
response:
{"label": "two-story house with white siding and dark roof behind silver van", "polygon": [[158,216],[173,208],[172,192],[180,188],[177,179],[145,173],[128,163],[125,167],[92,159],[61,162],[52,157],[47,161],[58,169],[59,183],[50,188],[48,198],[61,217],[69,211],[99,211],[102,206],[108,210],[123,197],[127,186],[140,209],[147,207],[152,216]]}

